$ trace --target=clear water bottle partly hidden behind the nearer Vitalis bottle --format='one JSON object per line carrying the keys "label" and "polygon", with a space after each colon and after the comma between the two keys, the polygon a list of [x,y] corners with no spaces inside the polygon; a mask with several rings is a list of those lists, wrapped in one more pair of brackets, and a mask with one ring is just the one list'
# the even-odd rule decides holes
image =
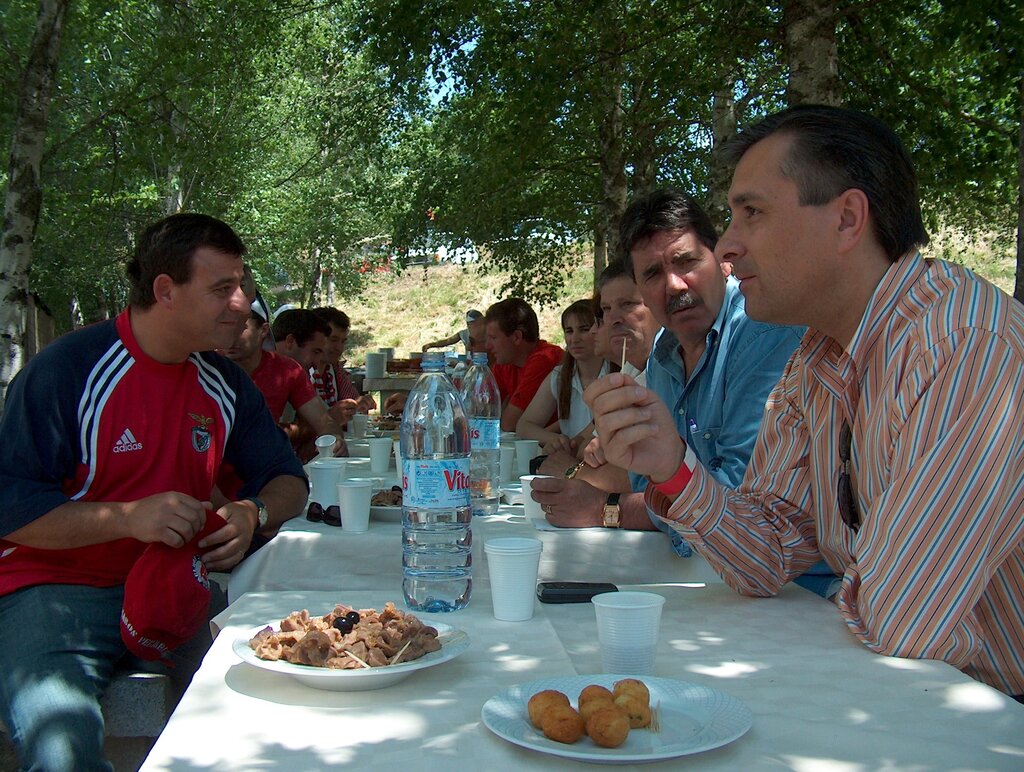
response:
{"label": "clear water bottle partly hidden behind the nearer Vitalis bottle", "polygon": [[486,352],[475,352],[462,382],[462,401],[469,416],[469,486],[474,515],[493,515],[501,495],[502,396]]}

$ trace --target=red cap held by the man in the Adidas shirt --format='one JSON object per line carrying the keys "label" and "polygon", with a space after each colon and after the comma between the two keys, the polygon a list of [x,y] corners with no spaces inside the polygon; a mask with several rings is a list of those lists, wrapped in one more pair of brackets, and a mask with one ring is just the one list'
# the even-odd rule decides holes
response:
{"label": "red cap held by the man in the Adidas shirt", "polygon": [[125,580],[121,639],[141,659],[161,659],[207,621],[210,580],[199,542],[222,528],[224,518],[207,511],[206,524],[184,547],[151,544]]}

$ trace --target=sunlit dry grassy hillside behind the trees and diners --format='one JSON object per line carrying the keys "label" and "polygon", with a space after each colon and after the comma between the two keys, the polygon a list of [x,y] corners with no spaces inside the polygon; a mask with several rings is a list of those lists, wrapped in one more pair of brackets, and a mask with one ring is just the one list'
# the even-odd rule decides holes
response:
{"label": "sunlit dry grassy hillside behind the trees and diners", "polygon": [[[1013,293],[1014,255],[991,244],[966,244],[945,233],[936,237],[929,256],[963,262],[1007,293]],[[589,297],[592,265],[589,256],[566,277],[559,302],[539,307],[541,335],[562,344],[561,310],[573,300]],[[400,275],[375,274],[360,297],[344,299],[338,307],[352,319],[347,351],[350,364],[362,363],[366,352],[393,346],[397,356],[419,351],[424,343],[440,340],[463,328],[469,308],[485,311],[501,299],[506,275],[483,273],[475,264],[415,266]]]}

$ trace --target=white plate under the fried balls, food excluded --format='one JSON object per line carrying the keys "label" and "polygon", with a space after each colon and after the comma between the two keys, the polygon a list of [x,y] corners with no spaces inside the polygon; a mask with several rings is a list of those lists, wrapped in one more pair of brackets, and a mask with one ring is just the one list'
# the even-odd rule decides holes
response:
{"label": "white plate under the fried balls, food excluded", "polygon": [[642,676],[650,689],[650,702],[658,704],[662,731],[633,729],[618,747],[599,747],[589,737],[567,745],[549,740],[529,723],[526,703],[537,692],[556,689],[575,706],[589,684],[611,688],[615,681],[637,676],[565,676],[513,686],[488,699],[480,716],[487,729],[509,742],[543,754],[596,764],[634,764],[675,759],[725,745],[740,737],[754,723],[750,709],[730,694],[706,686],[668,678]]}

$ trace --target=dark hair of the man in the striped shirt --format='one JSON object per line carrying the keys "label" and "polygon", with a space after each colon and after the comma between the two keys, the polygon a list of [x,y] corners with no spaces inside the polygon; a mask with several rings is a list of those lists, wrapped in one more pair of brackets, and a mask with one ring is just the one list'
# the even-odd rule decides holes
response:
{"label": "dark hair of the man in the striped shirt", "polygon": [[800,191],[801,206],[820,206],[857,188],[867,197],[874,238],[890,260],[928,244],[913,164],[895,132],[871,116],[826,104],[801,104],[768,116],[724,149],[735,165],[772,134],[793,137],[781,173]]}

